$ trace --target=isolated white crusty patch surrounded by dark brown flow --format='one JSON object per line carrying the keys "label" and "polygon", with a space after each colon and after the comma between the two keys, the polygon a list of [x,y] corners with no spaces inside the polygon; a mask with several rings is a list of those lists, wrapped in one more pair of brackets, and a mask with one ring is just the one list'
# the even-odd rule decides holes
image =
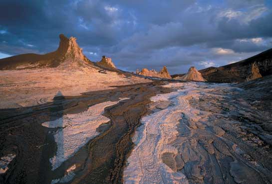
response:
{"label": "isolated white crusty patch surrounded by dark brown flow", "polygon": [[[124,99],[127,98],[120,100]],[[65,114],[56,120],[42,123],[42,126],[48,128],[59,128],[56,132],[53,132],[57,151],[56,155],[50,158],[52,170],[58,168],[65,160],[72,157],[79,148],[99,134],[96,131],[99,125],[110,121],[109,118],[102,115],[104,108],[117,104],[119,101],[98,103],[90,106],[86,111]]]}

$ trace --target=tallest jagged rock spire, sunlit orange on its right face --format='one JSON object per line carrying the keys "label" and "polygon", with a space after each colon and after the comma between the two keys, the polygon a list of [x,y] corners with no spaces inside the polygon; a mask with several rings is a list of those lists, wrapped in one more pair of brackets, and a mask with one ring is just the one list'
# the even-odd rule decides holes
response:
{"label": "tallest jagged rock spire, sunlit orange on its right face", "polygon": [[59,35],[59,47],[57,52],[64,57],[71,57],[72,59],[85,60],[82,49],[76,43],[75,37],[67,38],[63,34]]}

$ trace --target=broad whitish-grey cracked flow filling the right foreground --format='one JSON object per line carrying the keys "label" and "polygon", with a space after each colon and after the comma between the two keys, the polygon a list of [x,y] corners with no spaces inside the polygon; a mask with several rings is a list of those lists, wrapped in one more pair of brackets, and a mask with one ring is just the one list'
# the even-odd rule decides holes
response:
{"label": "broad whitish-grey cracked flow filling the right foreground", "polygon": [[135,147],[123,173],[125,184],[272,181],[265,161],[257,160],[260,156],[253,154],[256,144],[265,143],[256,135],[245,133],[250,125],[229,118],[257,113],[246,101],[233,99],[241,89],[202,82],[165,87],[177,91],[151,98],[153,113],[141,119],[143,125],[133,137]]}

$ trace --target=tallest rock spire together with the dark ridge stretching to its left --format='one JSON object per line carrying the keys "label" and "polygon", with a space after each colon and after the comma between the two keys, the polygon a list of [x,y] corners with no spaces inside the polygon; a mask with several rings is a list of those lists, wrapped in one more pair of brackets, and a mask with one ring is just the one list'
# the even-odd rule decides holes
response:
{"label": "tallest rock spire together with the dark ridge stretching to its left", "polygon": [[59,46],[54,52],[47,54],[20,54],[0,59],[0,70],[54,68],[61,65],[92,65],[76,43],[76,38],[59,35]]}

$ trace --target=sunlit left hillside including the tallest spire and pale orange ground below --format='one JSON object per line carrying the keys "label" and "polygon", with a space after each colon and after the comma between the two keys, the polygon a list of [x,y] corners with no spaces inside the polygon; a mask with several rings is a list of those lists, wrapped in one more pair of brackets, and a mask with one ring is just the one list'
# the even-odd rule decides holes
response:
{"label": "sunlit left hillside including the tallest spire and pale orange ground below", "polygon": [[[45,55],[22,54],[0,60],[0,108],[17,108],[51,101],[54,95],[112,89],[111,86],[149,82],[113,68],[90,62],[76,38],[60,35],[59,47]],[[102,71],[102,72],[101,72]]]}

